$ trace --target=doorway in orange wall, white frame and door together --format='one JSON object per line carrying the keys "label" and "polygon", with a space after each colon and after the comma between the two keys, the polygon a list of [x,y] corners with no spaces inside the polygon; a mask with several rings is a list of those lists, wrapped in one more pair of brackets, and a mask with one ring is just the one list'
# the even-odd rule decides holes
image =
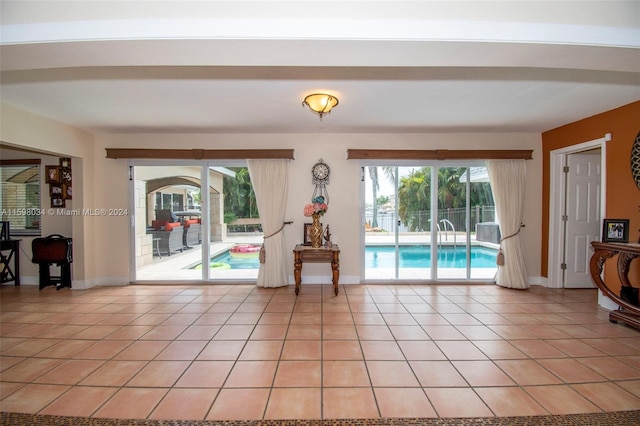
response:
{"label": "doorway in orange wall, white frame and door together", "polygon": [[591,242],[604,215],[605,143],[600,139],[551,152],[548,287],[593,288]]}

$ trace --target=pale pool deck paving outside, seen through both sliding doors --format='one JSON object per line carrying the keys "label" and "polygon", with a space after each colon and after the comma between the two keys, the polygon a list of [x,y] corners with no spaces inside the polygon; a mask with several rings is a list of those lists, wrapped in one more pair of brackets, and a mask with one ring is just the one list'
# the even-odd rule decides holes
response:
{"label": "pale pool deck paving outside, seen through both sliding doors", "polygon": [[[261,244],[261,235],[233,236],[233,239],[225,242],[212,242],[210,245],[211,257],[225,252],[235,244]],[[445,235],[442,232],[438,238],[438,244],[442,245],[464,245],[466,235],[458,233],[455,237],[452,232]],[[412,233],[402,234],[399,236],[400,244],[410,245],[429,245],[431,236],[428,233]],[[365,236],[365,245],[393,245],[395,244],[395,236],[386,232],[367,232]],[[476,242],[472,235],[471,244],[482,245],[489,248],[498,248],[497,244]],[[181,253],[172,254],[171,256],[162,256],[162,258],[154,258],[154,262],[138,268],[136,280],[140,282],[167,282],[167,281],[184,281],[184,282],[201,282],[203,280],[203,271],[201,269],[189,269],[202,262],[202,246],[196,245],[190,250]],[[495,277],[495,268],[474,268],[472,271],[472,279],[492,280]],[[400,271],[398,279],[405,280],[425,280],[429,279],[431,274],[430,268],[403,268]],[[217,269],[211,273],[214,279],[230,280],[230,281],[255,281],[258,275],[257,269]],[[438,278],[442,279],[466,279],[466,269],[464,268],[440,268],[438,270]],[[394,268],[367,268],[365,271],[366,280],[392,280],[396,279]]]}

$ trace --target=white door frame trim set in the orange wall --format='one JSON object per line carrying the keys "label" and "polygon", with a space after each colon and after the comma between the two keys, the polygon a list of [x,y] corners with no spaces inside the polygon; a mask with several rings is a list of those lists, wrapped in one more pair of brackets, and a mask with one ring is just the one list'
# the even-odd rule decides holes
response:
{"label": "white door frame trim set in the orange wall", "polygon": [[[549,181],[549,245],[547,258],[547,287],[563,288],[563,274],[561,264],[565,251],[564,226],[562,212],[567,198],[567,188],[564,184],[564,166],[567,156],[600,148],[600,217],[606,213],[606,143],[611,140],[611,133],[591,141],[565,148],[553,150],[549,153],[550,181]],[[553,188],[553,190],[552,190]],[[557,188],[557,189],[556,189]]]}

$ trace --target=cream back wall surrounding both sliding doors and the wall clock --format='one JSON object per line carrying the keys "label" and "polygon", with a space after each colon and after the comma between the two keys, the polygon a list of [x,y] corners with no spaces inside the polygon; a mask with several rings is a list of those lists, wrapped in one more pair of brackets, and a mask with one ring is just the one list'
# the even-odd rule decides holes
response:
{"label": "cream back wall surrounding both sliding doors and the wall clock", "polygon": [[[331,167],[329,212],[323,223],[329,224],[332,239],[341,249],[341,282],[359,282],[360,274],[360,163],[347,160],[347,149],[533,149],[533,160],[527,161],[526,228],[523,241],[529,274],[540,270],[541,181],[540,135],[534,133],[494,134],[112,134],[96,136],[95,194],[98,207],[128,208],[128,161],[106,159],[105,148],[176,148],[183,149],[270,149],[295,150],[290,165],[287,218],[295,223],[286,228],[287,245],[301,242],[304,204],[313,193],[311,166],[323,158]],[[96,218],[95,251],[100,253],[96,275],[113,283],[124,283],[129,276],[129,226],[127,218]],[[293,269],[289,259],[289,269]],[[326,276],[326,265],[305,266],[304,275]],[[539,283],[538,276],[531,277]]]}

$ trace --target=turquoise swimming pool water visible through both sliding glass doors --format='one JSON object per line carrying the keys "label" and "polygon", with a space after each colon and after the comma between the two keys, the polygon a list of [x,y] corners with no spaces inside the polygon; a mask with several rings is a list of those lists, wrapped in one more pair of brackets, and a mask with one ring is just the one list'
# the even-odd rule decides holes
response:
{"label": "turquoise swimming pool water visible through both sliding glass doors", "polygon": [[[443,246],[438,248],[439,268],[466,268],[466,247]],[[431,246],[400,246],[400,268],[431,268]],[[472,268],[495,268],[497,250],[471,246]],[[364,250],[365,268],[395,268],[394,246],[367,246]],[[228,265],[228,266],[227,266]],[[258,257],[237,258],[228,251],[212,257],[211,266],[223,269],[258,269]]]}

